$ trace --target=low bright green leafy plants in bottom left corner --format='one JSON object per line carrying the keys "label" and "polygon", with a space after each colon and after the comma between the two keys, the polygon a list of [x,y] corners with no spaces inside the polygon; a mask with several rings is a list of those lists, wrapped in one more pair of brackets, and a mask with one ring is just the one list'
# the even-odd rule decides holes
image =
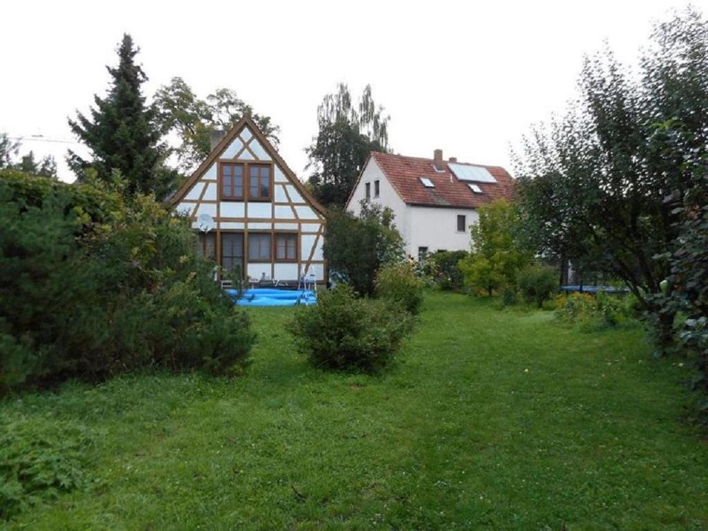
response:
{"label": "low bright green leafy plants in bottom left corner", "polygon": [[8,519],[59,493],[81,488],[86,449],[82,427],[0,418],[0,518]]}

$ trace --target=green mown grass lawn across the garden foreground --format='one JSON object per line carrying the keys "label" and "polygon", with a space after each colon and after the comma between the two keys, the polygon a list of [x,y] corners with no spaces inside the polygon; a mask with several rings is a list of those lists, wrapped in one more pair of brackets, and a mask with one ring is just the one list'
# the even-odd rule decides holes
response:
{"label": "green mown grass lawn across the garden foreground", "polygon": [[[708,447],[686,367],[640,329],[430,294],[379,376],[313,370],[289,309],[252,309],[239,379],[135,375],[6,399],[93,434],[96,481],[7,529],[704,530]],[[1,525],[0,525],[1,527]]]}

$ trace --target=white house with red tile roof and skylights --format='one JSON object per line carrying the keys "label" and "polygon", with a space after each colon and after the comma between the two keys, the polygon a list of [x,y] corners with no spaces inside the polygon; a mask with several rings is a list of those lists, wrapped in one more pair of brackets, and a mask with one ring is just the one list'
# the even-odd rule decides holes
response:
{"label": "white house with red tile roof and skylights", "polygon": [[393,210],[406,253],[420,258],[435,251],[469,250],[469,226],[477,209],[513,197],[513,178],[500,166],[481,166],[372,152],[354,186],[347,210],[358,214],[362,200]]}

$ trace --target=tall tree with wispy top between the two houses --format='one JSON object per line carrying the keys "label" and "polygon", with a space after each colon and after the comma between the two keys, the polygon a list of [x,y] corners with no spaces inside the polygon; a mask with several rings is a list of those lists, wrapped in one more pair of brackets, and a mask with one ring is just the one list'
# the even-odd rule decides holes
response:
{"label": "tall tree with wispy top between the two houses", "polygon": [[324,96],[317,108],[319,133],[306,149],[309,185],[323,205],[343,207],[369,154],[388,151],[389,119],[369,85],[356,105],[343,83]]}

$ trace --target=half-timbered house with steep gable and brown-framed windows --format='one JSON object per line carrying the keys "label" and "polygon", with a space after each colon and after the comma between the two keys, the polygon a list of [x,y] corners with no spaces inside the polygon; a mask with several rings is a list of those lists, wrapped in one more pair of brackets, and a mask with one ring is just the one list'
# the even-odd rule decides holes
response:
{"label": "half-timbered house with steep gable and brown-framed windows", "polygon": [[[212,146],[171,201],[222,268],[251,281],[326,282],[324,208],[250,118]],[[211,221],[208,232],[200,219]]]}

